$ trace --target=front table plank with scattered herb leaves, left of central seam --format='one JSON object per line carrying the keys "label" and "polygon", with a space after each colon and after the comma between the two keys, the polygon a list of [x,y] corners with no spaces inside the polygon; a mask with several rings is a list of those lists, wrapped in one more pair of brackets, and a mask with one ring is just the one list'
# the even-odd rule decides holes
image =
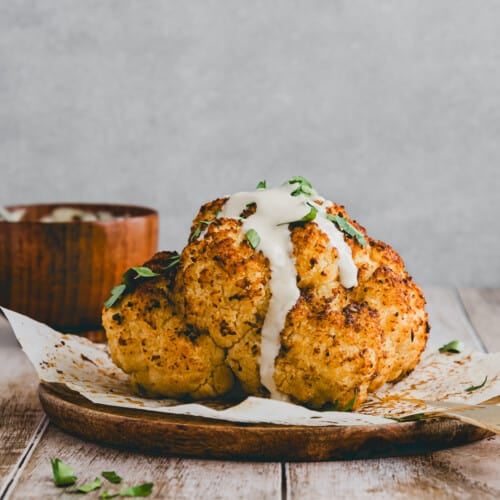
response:
{"label": "front table plank with scattered herb leaves, left of central seam", "polygon": [[[281,464],[223,462],[152,457],[94,445],[50,425],[23,474],[12,499],[67,498],[75,495],[56,488],[50,458],[60,458],[74,468],[78,484],[92,481],[104,470],[114,470],[126,485],[153,482],[150,498],[162,499],[281,499]],[[105,482],[105,489],[116,490]],[[95,495],[94,498],[96,498]]]}

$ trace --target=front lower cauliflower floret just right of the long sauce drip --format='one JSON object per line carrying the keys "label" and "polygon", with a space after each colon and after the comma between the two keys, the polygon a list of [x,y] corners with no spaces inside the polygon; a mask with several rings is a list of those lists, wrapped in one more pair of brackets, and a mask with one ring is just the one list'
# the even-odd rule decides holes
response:
{"label": "front lower cauliflower floret just right of the long sauce drip", "polygon": [[355,407],[383,355],[383,332],[366,304],[340,311],[301,297],[288,315],[276,360],[276,384],[294,401],[314,408]]}

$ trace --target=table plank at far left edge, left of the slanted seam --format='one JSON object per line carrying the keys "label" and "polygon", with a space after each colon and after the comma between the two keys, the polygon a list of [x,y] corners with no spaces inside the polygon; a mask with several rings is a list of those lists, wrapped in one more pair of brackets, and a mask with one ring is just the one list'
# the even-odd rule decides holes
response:
{"label": "table plank at far left edge, left of the slanted seam", "polygon": [[45,423],[38,377],[0,314],[0,498]]}

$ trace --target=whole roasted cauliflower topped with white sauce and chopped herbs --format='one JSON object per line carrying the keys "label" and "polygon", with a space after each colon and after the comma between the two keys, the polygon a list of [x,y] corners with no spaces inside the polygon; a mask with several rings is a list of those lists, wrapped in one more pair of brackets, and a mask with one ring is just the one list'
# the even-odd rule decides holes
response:
{"label": "whole roasted cauliflower topped with white sauce and chopped herbs", "polygon": [[429,333],[398,253],[303,177],[203,205],[180,255],[125,273],[103,324],[140,394],[339,410],[412,371]]}

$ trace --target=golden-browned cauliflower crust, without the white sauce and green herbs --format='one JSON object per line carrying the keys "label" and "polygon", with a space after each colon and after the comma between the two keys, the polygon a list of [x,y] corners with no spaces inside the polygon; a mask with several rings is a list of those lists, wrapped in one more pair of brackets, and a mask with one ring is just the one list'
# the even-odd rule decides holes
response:
{"label": "golden-browned cauliflower crust, without the white sauce and green herbs", "polygon": [[[268,394],[259,362],[270,265],[241,220],[218,216],[224,204],[200,209],[178,265],[165,269],[172,254],[157,254],[145,266],[160,276],[138,280],[104,310],[113,360],[143,394],[201,399],[235,387]],[[422,291],[397,252],[371,239],[342,206],[327,211],[364,236],[365,245],[345,238],[358,284],[341,284],[338,250],[314,221],[290,224],[300,298],[280,334],[274,381],[294,402],[355,409],[369,391],[415,368],[429,326]],[[243,218],[252,207],[246,212]]]}

